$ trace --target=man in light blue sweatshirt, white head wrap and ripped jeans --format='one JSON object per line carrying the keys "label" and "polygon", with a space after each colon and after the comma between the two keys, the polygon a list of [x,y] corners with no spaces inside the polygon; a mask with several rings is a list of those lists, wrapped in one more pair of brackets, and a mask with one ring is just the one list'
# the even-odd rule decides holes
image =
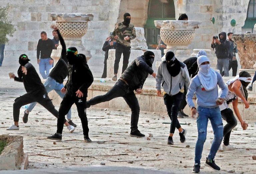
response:
{"label": "man in light blue sweatshirt, white head wrap and ripped jeans", "polygon": [[[192,117],[197,117],[198,138],[195,147],[195,165],[193,167],[193,173],[200,172],[200,159],[206,140],[208,119],[211,121],[214,139],[204,165],[216,171],[220,170],[220,167],[214,162],[214,157],[223,138],[223,123],[219,105],[224,102],[228,92],[221,75],[210,68],[208,57],[198,57],[197,64],[199,67],[198,74],[191,80],[186,95],[188,106],[192,109]],[[218,98],[217,85],[222,90],[220,98]],[[194,93],[197,98],[197,108],[192,101]]]}

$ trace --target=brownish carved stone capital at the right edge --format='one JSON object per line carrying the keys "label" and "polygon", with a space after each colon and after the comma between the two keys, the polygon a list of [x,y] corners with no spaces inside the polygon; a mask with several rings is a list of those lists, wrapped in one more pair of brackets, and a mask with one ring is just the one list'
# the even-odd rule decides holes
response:
{"label": "brownish carved stone capital at the right edge", "polygon": [[253,65],[256,61],[256,34],[233,34],[232,40],[236,43],[240,58],[241,71],[247,71],[254,76]]}

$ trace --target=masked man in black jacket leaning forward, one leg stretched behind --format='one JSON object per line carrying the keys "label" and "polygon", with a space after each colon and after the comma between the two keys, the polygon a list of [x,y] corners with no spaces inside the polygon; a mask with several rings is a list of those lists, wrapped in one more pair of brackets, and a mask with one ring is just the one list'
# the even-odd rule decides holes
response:
{"label": "masked man in black jacket leaning forward, one leg stretched behind", "polygon": [[153,52],[146,51],[143,56],[136,58],[126,68],[114,87],[104,95],[91,98],[86,102],[86,107],[88,108],[91,105],[110,101],[113,98],[123,97],[132,110],[130,136],[144,137],[145,135],[138,130],[140,106],[134,90],[137,93],[142,93],[142,87],[148,74],[152,75],[154,78],[156,77],[156,74],[152,69],[154,57],[155,55]]}

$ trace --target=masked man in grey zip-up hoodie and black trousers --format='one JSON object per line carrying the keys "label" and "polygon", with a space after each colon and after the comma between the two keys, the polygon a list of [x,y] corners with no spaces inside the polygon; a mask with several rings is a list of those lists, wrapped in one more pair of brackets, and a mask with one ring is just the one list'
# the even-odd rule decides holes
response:
{"label": "masked man in grey zip-up hoodie and black trousers", "polygon": [[179,130],[180,142],[186,141],[185,129],[182,129],[178,121],[178,109],[184,92],[183,86],[186,83],[188,88],[190,78],[187,67],[184,63],[175,58],[173,52],[169,51],[165,55],[165,60],[161,62],[156,73],[156,90],[157,95],[161,95],[161,84],[164,88],[164,104],[166,105],[168,115],[171,119],[170,134],[168,144],[173,144],[172,136],[175,127]]}

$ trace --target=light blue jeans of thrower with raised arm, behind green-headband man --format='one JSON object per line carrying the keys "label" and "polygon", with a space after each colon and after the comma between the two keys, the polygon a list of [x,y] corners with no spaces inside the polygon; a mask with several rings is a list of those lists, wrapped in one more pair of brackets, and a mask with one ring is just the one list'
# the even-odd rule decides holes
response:
{"label": "light blue jeans of thrower with raised arm, behind green-headband man", "polygon": [[[63,84],[60,84],[58,82],[56,82],[53,78],[48,77],[47,80],[44,83],[45,89],[47,91],[47,93],[49,93],[52,90],[55,90],[57,92],[57,94],[59,94],[59,96],[63,99],[63,97],[65,96],[64,93],[62,93],[60,90],[64,87]],[[33,102],[31,103],[27,110],[29,112],[32,111],[32,109],[35,107],[35,105],[37,104],[37,102]],[[67,119],[71,119],[71,109],[68,111],[67,113]]]}

